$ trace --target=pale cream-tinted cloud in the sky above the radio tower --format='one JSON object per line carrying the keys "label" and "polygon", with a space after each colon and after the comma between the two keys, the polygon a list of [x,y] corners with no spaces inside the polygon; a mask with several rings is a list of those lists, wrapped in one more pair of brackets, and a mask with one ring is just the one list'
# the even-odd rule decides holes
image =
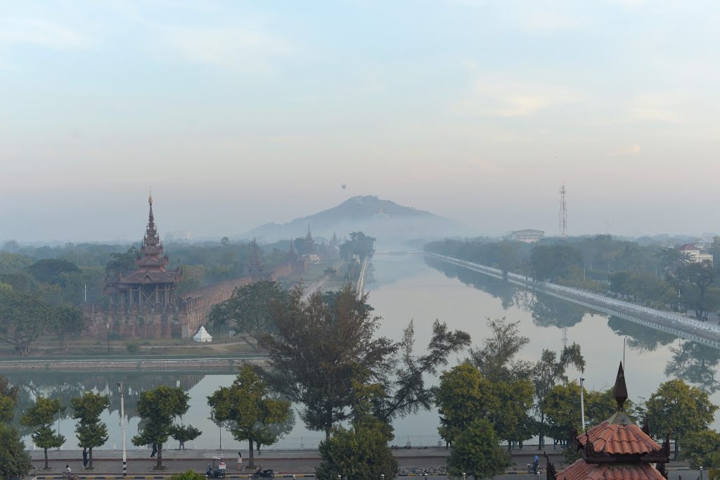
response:
{"label": "pale cream-tinted cloud in the sky above the radio tower", "polygon": [[472,83],[461,108],[491,117],[528,117],[576,101],[582,96],[570,89],[484,73]]}

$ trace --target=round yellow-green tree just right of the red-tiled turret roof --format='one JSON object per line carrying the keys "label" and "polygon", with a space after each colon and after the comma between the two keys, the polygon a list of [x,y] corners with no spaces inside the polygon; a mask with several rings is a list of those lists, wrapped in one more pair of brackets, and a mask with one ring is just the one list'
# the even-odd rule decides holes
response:
{"label": "round yellow-green tree just right of the red-tiled turret roof", "polygon": [[674,458],[678,458],[679,446],[685,435],[706,430],[718,409],[710,402],[708,394],[678,379],[660,384],[645,407],[652,433],[658,438],[670,435],[675,440]]}

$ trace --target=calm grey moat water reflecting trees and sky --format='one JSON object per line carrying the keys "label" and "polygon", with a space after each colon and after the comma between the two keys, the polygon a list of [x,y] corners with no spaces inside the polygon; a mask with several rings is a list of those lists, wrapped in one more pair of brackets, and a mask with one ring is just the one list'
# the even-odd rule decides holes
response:
{"label": "calm grey moat water reflecting trees and sky", "polygon": [[[451,266],[424,255],[377,255],[373,262],[369,302],[382,317],[379,335],[398,339],[410,320],[415,322],[415,347],[426,345],[436,319],[447,322],[454,329],[470,333],[474,345],[485,338],[486,317],[507,317],[519,321],[523,335],[531,342],[520,357],[537,361],[541,350],[561,350],[564,343],[577,342],[587,363],[585,385],[588,389],[607,389],[612,386],[623,358],[626,341],[626,379],[630,398],[642,402],[662,381],[679,377],[709,393],[720,404],[720,351],[679,340],[673,335],[636,325],[617,317],[596,314],[569,302],[547,296],[536,296],[503,281],[480,273]],[[453,356],[454,366],[466,356]],[[569,372],[570,378],[579,376]],[[182,422],[202,430],[202,435],[187,448],[222,450],[246,448],[232,439],[210,420],[207,396],[218,386],[232,383],[232,374],[204,373],[10,373],[12,384],[22,388],[21,408],[32,401],[35,394],[58,396],[67,402],[86,389],[107,392],[112,397],[109,412],[104,414],[110,438],[105,448],[122,448],[120,430],[120,396],[114,389],[118,381],[127,385],[125,414],[127,416],[127,446],[135,448],[130,438],[138,431],[135,403],[140,391],[160,384],[181,386],[190,395],[190,409]],[[438,379],[430,379],[436,384]],[[716,420],[714,427],[719,427]],[[436,445],[438,413],[435,409],[419,412],[394,423],[395,443],[405,445]],[[60,433],[66,435],[63,448],[76,448],[75,422],[69,416],[58,420]],[[315,448],[323,433],[307,430],[297,412],[288,433],[271,448]],[[30,446],[30,439],[26,437]],[[177,448],[171,440],[166,448]]]}

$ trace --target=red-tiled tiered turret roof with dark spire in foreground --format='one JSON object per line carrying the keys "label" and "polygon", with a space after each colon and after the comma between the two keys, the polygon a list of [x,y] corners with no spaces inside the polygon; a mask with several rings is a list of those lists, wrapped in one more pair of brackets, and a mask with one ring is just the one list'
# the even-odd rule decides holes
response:
{"label": "red-tiled tiered turret roof with dark spire in foreground", "polygon": [[625,413],[628,392],[622,363],[613,397],[618,407],[608,420],[580,435],[573,433],[572,445],[582,458],[560,472],[548,461],[547,480],[667,480],[670,439],[658,445],[650,438],[647,422],[640,428]]}

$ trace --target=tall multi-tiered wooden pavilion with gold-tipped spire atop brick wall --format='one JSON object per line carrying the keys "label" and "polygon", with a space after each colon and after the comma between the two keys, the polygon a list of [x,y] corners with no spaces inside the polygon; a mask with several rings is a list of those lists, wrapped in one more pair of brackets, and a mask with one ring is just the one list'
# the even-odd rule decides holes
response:
{"label": "tall multi-tiered wooden pavilion with gold-tipped spire atop brick wall", "polygon": [[179,268],[166,270],[168,255],[163,255],[163,244],[153,216],[153,196],[148,198],[150,214],[145,230],[140,257],[135,260],[138,270],[123,276],[121,273],[107,279],[104,294],[110,297],[111,309],[124,312],[174,312],[175,286],[181,279]]}

